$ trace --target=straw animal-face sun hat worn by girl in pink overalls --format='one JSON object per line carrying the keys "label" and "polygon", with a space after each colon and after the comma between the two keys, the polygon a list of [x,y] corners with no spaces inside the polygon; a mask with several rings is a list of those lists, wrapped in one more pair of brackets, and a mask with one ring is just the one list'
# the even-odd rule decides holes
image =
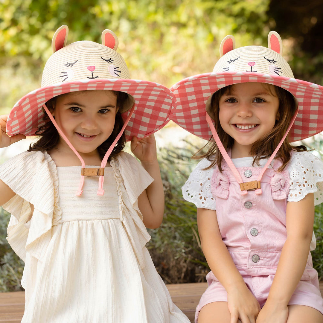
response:
{"label": "straw animal-face sun hat worn by girl in pink overalls", "polygon": [[234,37],[226,36],[220,45],[220,56],[212,73],[185,78],[171,87],[177,98],[172,116],[175,123],[209,140],[212,133],[206,111],[214,120],[210,106],[212,94],[236,83],[261,82],[281,87],[296,98],[299,112],[289,133],[291,142],[323,131],[323,87],[294,78],[282,57],[282,41],[275,31],[268,35],[268,48],[245,46],[235,49]]}

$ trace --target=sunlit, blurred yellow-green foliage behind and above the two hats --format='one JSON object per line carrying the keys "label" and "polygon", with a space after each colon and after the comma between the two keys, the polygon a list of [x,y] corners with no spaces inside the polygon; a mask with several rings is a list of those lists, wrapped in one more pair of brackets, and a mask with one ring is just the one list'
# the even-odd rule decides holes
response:
{"label": "sunlit, blurred yellow-green foliage behind and above the two hats", "polygon": [[130,75],[167,87],[211,72],[224,36],[238,46],[266,44],[269,0],[1,0],[0,113],[40,86],[55,30],[69,27],[68,44],[119,38]]}

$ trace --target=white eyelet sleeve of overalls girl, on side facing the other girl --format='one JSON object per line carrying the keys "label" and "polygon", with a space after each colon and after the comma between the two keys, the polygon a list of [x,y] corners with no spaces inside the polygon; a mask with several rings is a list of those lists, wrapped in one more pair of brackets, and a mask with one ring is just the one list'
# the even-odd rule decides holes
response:
{"label": "white eyelet sleeve of overalls girl, on side facing the other girl", "polygon": [[188,180],[182,187],[183,198],[192,202],[197,208],[215,210],[215,198],[211,191],[211,178],[214,167],[204,170],[210,166],[211,161],[204,158],[200,161]]}

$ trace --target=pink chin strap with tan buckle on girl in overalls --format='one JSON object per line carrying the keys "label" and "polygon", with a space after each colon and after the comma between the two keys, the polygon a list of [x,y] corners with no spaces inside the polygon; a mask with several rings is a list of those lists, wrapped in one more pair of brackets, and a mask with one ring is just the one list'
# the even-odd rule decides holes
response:
{"label": "pink chin strap with tan buckle on girl in overalls", "polygon": [[253,182],[246,182],[244,183],[238,170],[236,169],[236,167],[234,166],[234,163],[232,162],[231,158],[229,157],[228,153],[226,152],[226,150],[224,149],[224,146],[214,128],[214,124],[212,122],[211,117],[209,116],[209,114],[206,112],[206,121],[210,126],[211,132],[212,132],[212,136],[216,142],[216,145],[218,146],[218,149],[220,150],[224,160],[226,161],[226,163],[228,164],[229,168],[231,169],[231,171],[234,174],[234,177],[236,178],[236,180],[238,181],[238,183],[240,184],[240,189],[241,189],[241,195],[245,195],[247,194],[249,190],[254,190],[255,189],[255,193],[256,194],[262,194],[262,190],[260,187],[260,181],[264,175],[264,173],[266,172],[267,167],[269,166],[269,164],[272,162],[272,160],[275,158],[277,151],[279,150],[279,148],[281,147],[281,145],[283,144],[285,138],[287,137],[287,134],[289,132],[289,130],[292,128],[294,121],[296,119],[298,113],[298,107],[297,110],[288,126],[288,129],[285,133],[285,135],[283,136],[282,140],[279,142],[277,148],[275,149],[275,151],[272,153],[272,155],[270,156],[270,158],[268,159],[266,165],[262,168],[262,171],[260,172],[258,178],[256,181]]}

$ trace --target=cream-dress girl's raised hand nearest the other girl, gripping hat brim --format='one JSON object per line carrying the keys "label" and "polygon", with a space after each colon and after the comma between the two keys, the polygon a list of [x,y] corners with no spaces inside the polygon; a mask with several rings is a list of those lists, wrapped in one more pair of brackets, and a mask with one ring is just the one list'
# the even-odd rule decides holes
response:
{"label": "cream-dress girl's raised hand nearest the other girl, gripping hat brim", "polygon": [[130,149],[141,162],[157,161],[156,141],[153,134],[140,139],[132,137]]}

